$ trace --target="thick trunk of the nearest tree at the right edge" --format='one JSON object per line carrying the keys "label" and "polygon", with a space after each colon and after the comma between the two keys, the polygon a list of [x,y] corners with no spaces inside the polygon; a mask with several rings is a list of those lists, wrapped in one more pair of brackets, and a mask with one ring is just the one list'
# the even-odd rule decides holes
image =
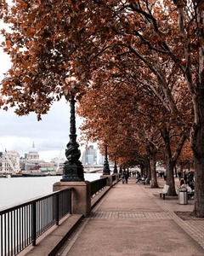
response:
{"label": "thick trunk of the nearest tree at the right edge", "polygon": [[[204,9],[201,3],[197,7],[197,21],[200,23],[199,36],[204,40]],[[198,23],[198,24],[199,24]],[[195,160],[195,216],[204,218],[204,46],[199,48],[199,79],[197,80],[197,112],[195,124],[190,133],[191,146]],[[196,110],[195,109],[195,110]]]}

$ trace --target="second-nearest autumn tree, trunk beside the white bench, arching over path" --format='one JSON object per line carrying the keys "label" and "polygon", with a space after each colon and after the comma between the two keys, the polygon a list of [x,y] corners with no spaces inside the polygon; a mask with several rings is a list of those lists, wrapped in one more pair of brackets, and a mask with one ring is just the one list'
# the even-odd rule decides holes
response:
{"label": "second-nearest autumn tree, trunk beside the white bench, arching over path", "polygon": [[[161,136],[163,137],[163,141],[166,144],[168,179],[167,182],[172,188],[169,189],[169,191],[172,191],[172,195],[176,195],[173,166],[175,166],[176,160],[178,159],[178,155],[182,148],[182,144],[184,144],[187,136],[186,132],[184,132],[184,129],[182,128],[182,130],[180,131],[180,142],[176,143],[176,145],[178,145],[178,148],[175,149],[174,154],[172,153],[173,147],[171,147],[170,137],[173,137],[173,127],[176,127],[178,124],[184,126],[184,114],[182,114],[183,116],[181,119],[181,116],[179,116],[178,113],[183,113],[183,110],[185,111],[185,113],[189,111],[190,103],[188,102],[188,93],[186,93],[186,91],[184,90],[184,81],[179,79],[179,76],[175,71],[175,69],[177,70],[177,68],[173,66],[171,62],[169,65],[167,65],[167,59],[163,60],[161,59],[161,57],[160,59],[158,59],[158,57],[156,58],[155,55],[150,58],[150,51],[147,51],[147,49],[145,49],[144,52],[146,52],[146,54],[149,54],[150,60],[146,62],[148,62],[148,65],[151,66],[151,71],[153,70],[154,73],[150,71],[148,72],[148,67],[144,65],[143,61],[139,60],[139,58],[135,56],[134,52],[131,52],[127,49],[127,45],[125,45],[125,43],[123,43],[122,46],[117,44],[116,51],[114,51],[112,48],[107,49],[104,57],[99,59],[99,70],[96,69],[97,71],[94,72],[92,76],[92,86],[90,87],[99,89],[100,87],[107,87],[107,84],[109,84],[109,87],[111,89],[112,87],[118,87],[118,84],[124,84],[122,85],[122,93],[124,94],[124,97],[127,93],[126,88],[130,86],[132,86],[133,88],[131,93],[134,95],[136,95],[137,90],[144,89],[143,93],[140,94],[137,101],[133,102],[132,104],[134,105],[134,108],[138,108],[137,106],[139,105],[139,108],[142,109],[143,115],[150,115],[150,113],[153,113],[153,115],[155,115],[155,121],[152,123],[152,125],[158,127],[159,131],[161,132]],[[111,56],[111,58],[105,58],[106,55]],[[135,61],[137,61],[136,64]],[[160,62],[161,65],[158,65],[158,63]],[[161,79],[159,79],[161,74],[163,77],[162,83]],[[169,84],[169,87],[167,87],[167,84]],[[162,86],[167,88],[163,89]],[[93,93],[94,90],[91,90],[90,94]],[[104,105],[109,104],[109,102],[111,104],[111,92],[106,91],[105,93],[106,96],[104,97],[106,99],[104,99]],[[92,110],[94,109],[86,108],[86,104],[88,104],[90,107],[90,102],[92,101],[92,96],[90,94],[88,94],[89,103],[82,101],[81,104],[83,106],[82,108],[85,109],[85,113],[88,113],[88,110],[92,113]],[[100,94],[103,95],[102,90],[100,91]],[[151,97],[151,102],[149,101],[149,104],[146,101],[146,96],[148,94]],[[168,97],[170,98],[170,100],[168,99]],[[97,98],[94,101],[97,102]],[[157,108],[159,108],[157,110],[154,104],[154,102],[156,101],[160,102],[160,104],[157,104]],[[102,112],[102,110],[105,109],[105,106],[103,106],[103,104],[101,104],[100,102],[99,106],[101,107]],[[126,108],[125,104],[123,108]],[[116,109],[116,106],[114,107],[114,109]],[[101,113],[101,116],[103,115],[104,114]],[[91,115],[90,118],[93,119],[93,116]],[[97,120],[94,126],[90,123],[88,124],[89,125],[87,125],[87,127],[91,127],[93,130],[97,130],[98,127],[95,126],[96,124],[99,125],[99,120]],[[106,127],[106,125],[104,126]],[[187,129],[186,127],[185,129]],[[149,153],[153,153],[153,145],[154,143],[150,145],[151,150],[149,150]]]}

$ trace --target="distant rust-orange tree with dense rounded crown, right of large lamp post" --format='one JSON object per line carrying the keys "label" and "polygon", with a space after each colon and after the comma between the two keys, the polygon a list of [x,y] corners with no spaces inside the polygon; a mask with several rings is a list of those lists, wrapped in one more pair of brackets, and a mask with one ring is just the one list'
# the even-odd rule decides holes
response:
{"label": "distant rust-orange tree with dense rounded crown, right of large lamp post", "polygon": [[[103,75],[99,74],[99,81],[95,77],[92,90],[87,88],[80,101],[78,113],[85,118],[82,131],[85,131],[88,140],[111,142],[109,152],[114,152],[113,155],[118,155],[116,145],[119,144],[119,147],[122,145],[120,152],[123,158],[128,151],[128,155],[132,154],[137,160],[137,154],[133,153],[134,147],[137,148],[138,156],[149,156],[151,186],[156,187],[156,152],[158,143],[161,144],[161,124],[170,122],[171,137],[175,137],[171,127],[173,123],[169,121],[168,115],[163,116],[163,106],[150,93],[149,87],[137,84],[137,80],[125,76],[125,72],[116,75],[116,69],[111,68],[113,75],[109,76],[108,67],[105,71]],[[130,73],[127,68],[126,71]],[[173,184],[175,193],[174,187]]]}

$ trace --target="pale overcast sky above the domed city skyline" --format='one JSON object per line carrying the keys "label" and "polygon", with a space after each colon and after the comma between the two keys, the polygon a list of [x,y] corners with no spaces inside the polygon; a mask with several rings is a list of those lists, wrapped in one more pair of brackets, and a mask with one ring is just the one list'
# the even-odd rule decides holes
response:
{"label": "pale overcast sky above the domed city skyline", "polygon": [[[8,55],[0,48],[0,80],[3,73],[10,67]],[[81,121],[77,118],[77,142]],[[62,100],[54,102],[48,114],[42,115],[42,120],[37,121],[37,115],[19,117],[12,108],[5,112],[0,109],[0,152],[16,150],[20,156],[28,153],[32,143],[40,154],[41,160],[51,160],[54,157],[65,157],[65,147],[69,142],[70,134],[70,104]],[[81,148],[83,149],[83,148]]]}

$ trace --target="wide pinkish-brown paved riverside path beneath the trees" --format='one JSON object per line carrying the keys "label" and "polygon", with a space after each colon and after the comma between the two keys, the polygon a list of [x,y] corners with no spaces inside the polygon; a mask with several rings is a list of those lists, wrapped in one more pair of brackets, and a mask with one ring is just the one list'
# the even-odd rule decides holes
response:
{"label": "wide pinkish-brown paved riverside path beneath the trees", "polygon": [[[163,185],[159,177],[158,182]],[[162,200],[158,191],[135,183],[117,183],[56,255],[203,256],[204,220],[183,220],[194,201]]]}

